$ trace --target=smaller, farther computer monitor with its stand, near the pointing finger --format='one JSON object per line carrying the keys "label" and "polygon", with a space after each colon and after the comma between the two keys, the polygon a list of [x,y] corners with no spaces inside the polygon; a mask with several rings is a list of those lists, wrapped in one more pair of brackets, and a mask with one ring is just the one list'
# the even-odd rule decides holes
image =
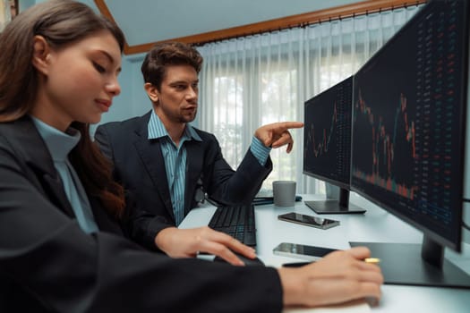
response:
{"label": "smaller, farther computer monitor with its stand, near the pointing finger", "polygon": [[364,213],[349,204],[353,77],[304,103],[303,173],[339,189],[339,199],[304,201],[317,214]]}

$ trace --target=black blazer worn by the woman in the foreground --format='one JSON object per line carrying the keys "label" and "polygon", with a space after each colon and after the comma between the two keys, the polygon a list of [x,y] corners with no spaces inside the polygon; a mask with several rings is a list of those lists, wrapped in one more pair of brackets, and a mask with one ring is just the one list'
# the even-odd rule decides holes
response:
{"label": "black blazer worn by the woman in the foreground", "polygon": [[90,198],[86,234],[30,118],[0,123],[0,312],[279,312],[278,274],[172,259],[128,241]]}

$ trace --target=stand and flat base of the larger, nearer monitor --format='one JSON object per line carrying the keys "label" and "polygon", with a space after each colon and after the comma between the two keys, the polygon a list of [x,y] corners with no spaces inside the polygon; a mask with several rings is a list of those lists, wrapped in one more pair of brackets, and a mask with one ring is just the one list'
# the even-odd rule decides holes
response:
{"label": "stand and flat base of the larger, nearer monitor", "polygon": [[382,242],[349,242],[349,244],[351,247],[368,247],[372,258],[380,258],[379,266],[384,283],[470,288],[470,275],[443,258],[443,247],[426,237],[423,239],[423,244]]}

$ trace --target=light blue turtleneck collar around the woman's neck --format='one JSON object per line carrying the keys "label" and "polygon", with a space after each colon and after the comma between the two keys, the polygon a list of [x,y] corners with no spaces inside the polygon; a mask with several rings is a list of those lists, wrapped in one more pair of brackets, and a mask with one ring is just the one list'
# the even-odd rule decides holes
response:
{"label": "light blue turtleneck collar around the woman's neck", "polygon": [[31,120],[38,129],[39,135],[46,142],[47,149],[54,161],[64,162],[81,139],[80,131],[72,127],[62,132],[34,116],[31,116]]}

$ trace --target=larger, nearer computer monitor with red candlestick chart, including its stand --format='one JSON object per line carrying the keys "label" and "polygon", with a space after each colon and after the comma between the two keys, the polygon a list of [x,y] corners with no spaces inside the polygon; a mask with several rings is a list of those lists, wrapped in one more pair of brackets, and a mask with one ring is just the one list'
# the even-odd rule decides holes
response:
{"label": "larger, nearer computer monitor with red candlestick chart, including its stand", "polygon": [[351,188],[423,232],[351,243],[381,259],[385,283],[470,287],[444,258],[461,249],[468,6],[425,4],[355,74]]}

